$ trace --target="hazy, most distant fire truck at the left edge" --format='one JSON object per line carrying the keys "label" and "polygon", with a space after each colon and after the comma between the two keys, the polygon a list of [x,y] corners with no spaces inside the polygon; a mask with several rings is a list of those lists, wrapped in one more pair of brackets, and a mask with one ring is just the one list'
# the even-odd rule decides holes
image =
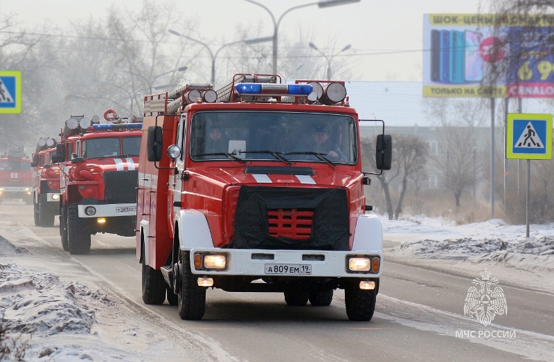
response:
{"label": "hazy, most distant fire truck at the left edge", "polygon": [[8,148],[0,156],[0,203],[6,199],[33,203],[33,171],[24,147]]}

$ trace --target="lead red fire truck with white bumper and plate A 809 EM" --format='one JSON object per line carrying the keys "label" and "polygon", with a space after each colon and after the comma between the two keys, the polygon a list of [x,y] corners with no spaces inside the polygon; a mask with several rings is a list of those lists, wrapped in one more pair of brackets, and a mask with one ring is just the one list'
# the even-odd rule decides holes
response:
{"label": "lead red fire truck with white bumper and plate A 809 EM", "polygon": [[[206,289],[284,293],[370,320],[382,227],[366,214],[359,124],[343,82],[237,74],[145,97],[136,255],[146,304],[204,316]],[[377,169],[391,165],[379,122]],[[167,152],[162,152],[167,150]]]}

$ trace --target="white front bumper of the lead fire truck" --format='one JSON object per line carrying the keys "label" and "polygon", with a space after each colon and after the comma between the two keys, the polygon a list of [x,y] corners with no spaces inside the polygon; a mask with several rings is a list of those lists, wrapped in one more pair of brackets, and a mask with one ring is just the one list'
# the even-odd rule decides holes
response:
{"label": "white front bumper of the lead fire truck", "polygon": [[[382,252],[193,248],[190,250],[191,266],[194,266],[195,253],[217,253],[227,255],[227,268],[224,271],[206,271],[196,270],[194,267],[192,268],[193,274],[201,275],[251,275],[260,276],[260,278],[269,275],[325,278],[379,278],[383,269]],[[346,264],[347,257],[349,256],[379,257],[379,271],[377,273],[348,272]],[[273,259],[269,259],[270,257]],[[311,273],[309,275],[266,273],[266,264],[310,265]]]}

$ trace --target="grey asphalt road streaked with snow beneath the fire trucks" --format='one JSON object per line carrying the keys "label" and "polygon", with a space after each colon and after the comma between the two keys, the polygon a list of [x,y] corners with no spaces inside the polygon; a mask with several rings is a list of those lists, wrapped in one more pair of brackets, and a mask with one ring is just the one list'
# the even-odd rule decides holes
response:
{"label": "grey asphalt road streaked with snow beneath the fire trucks", "polygon": [[384,264],[369,323],[348,321],[341,291],[330,307],[287,307],[280,293],[208,291],[204,320],[184,321],[176,307],[143,305],[133,238],[93,236],[90,255],[72,256],[62,251],[57,227],[33,225],[32,206],[6,203],[0,205],[0,235],[30,252],[0,253],[0,264],[42,269],[118,301],[97,306],[96,334],[33,336],[44,346],[73,346],[93,361],[554,361],[554,295],[511,287],[506,273],[493,276],[508,314],[487,327],[463,316],[478,273],[463,275],[459,267],[439,272],[444,265],[426,270],[403,259]]}

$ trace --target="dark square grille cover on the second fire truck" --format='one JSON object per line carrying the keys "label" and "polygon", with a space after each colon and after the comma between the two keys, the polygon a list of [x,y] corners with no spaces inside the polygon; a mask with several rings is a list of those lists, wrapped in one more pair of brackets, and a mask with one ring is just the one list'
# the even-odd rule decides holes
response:
{"label": "dark square grille cover on the second fire truck", "polygon": [[104,172],[105,203],[136,203],[139,171]]}

